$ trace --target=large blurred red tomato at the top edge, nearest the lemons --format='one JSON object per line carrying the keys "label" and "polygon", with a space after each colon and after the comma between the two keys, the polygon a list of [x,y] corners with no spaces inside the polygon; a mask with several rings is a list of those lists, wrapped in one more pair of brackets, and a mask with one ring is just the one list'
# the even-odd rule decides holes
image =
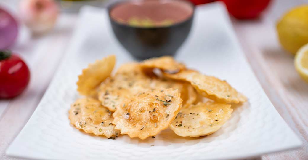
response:
{"label": "large blurred red tomato at the top edge, nearest the lemons", "polygon": [[270,3],[270,0],[221,0],[235,18],[257,18]]}

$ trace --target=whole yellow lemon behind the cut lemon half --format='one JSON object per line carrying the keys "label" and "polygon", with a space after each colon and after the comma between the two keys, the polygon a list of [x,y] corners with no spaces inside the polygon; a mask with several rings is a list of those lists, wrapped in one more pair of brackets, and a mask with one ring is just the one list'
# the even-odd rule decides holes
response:
{"label": "whole yellow lemon behind the cut lemon half", "polygon": [[277,32],[282,47],[292,54],[308,43],[308,5],[286,13],[277,24]]}

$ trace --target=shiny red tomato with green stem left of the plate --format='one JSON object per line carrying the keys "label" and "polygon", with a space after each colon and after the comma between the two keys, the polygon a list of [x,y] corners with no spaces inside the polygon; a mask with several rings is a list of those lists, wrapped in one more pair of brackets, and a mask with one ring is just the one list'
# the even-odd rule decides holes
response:
{"label": "shiny red tomato with green stem left of the plate", "polygon": [[0,98],[18,96],[29,80],[30,71],[25,62],[10,51],[0,50]]}

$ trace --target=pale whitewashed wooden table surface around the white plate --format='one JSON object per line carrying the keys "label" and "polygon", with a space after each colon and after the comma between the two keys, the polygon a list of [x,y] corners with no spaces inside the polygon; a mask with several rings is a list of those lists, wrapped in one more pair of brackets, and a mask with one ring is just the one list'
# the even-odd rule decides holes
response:
{"label": "pale whitewashed wooden table surface around the white plate", "polygon": [[[19,0],[2,0],[1,6],[17,13]],[[232,18],[234,30],[258,80],[275,108],[301,138],[300,149],[265,154],[262,160],[308,160],[308,84],[297,74],[293,56],[284,51],[277,39],[275,23],[290,8],[307,0],[272,1],[261,18],[239,21]],[[53,31],[33,37],[22,26],[13,51],[29,65],[31,80],[22,95],[0,100],[0,160],[17,160],[5,155],[6,148],[29,120],[46,91],[70,41],[76,14],[61,14]],[[275,145],[275,144],[273,144]]]}

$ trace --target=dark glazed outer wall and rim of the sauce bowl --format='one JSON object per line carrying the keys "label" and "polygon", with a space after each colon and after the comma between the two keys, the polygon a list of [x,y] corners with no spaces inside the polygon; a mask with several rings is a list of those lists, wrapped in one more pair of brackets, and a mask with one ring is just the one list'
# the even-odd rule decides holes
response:
{"label": "dark glazed outer wall and rim of the sauce bowl", "polygon": [[[151,0],[148,0],[148,2]],[[154,1],[154,0],[152,0]],[[175,2],[182,3],[185,7],[191,7],[191,14],[184,16],[182,20],[175,21],[170,26],[154,26],[154,27],[136,27],[130,26],[127,23],[121,23],[112,17],[111,11],[118,5],[123,3],[132,2],[136,4],[143,3],[142,0],[134,1],[122,1],[116,2],[108,7],[109,19],[111,22],[112,30],[119,40],[119,42],[137,59],[147,59],[151,57],[158,57],[163,55],[174,55],[179,47],[183,44],[187,38],[190,28],[193,23],[194,15],[194,5],[188,1],[184,0],[155,0],[156,2],[166,3],[166,2]],[[139,7],[139,6],[138,6]],[[136,8],[122,12],[127,14],[136,14]],[[162,7],[161,7],[162,8]],[[160,12],[164,12],[160,8]],[[156,11],[156,8],[153,8],[151,13],[159,15]],[[144,13],[144,11],[140,11]],[[145,12],[148,12],[147,10]],[[169,12],[167,12],[169,14]],[[175,13],[170,12],[176,16]],[[129,15],[125,15],[126,17]],[[124,16],[124,17],[125,17]],[[160,15],[160,18],[162,16]]]}

